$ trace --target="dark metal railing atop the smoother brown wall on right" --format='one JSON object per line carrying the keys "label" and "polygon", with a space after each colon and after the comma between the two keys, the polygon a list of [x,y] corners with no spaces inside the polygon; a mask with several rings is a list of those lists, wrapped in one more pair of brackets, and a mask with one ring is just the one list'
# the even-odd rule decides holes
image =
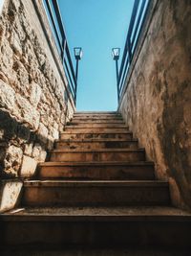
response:
{"label": "dark metal railing atop the smoother brown wall on right", "polygon": [[120,63],[120,68],[118,72],[118,79],[117,79],[117,88],[118,88],[117,98],[118,99],[120,99],[132,58],[134,57],[134,54],[136,52],[138,38],[142,30],[146,13],[148,11],[149,3],[150,3],[149,0],[135,0],[134,2],[133,12],[132,12],[129,29],[128,29],[128,33],[125,41],[125,46],[123,50],[123,55]]}

